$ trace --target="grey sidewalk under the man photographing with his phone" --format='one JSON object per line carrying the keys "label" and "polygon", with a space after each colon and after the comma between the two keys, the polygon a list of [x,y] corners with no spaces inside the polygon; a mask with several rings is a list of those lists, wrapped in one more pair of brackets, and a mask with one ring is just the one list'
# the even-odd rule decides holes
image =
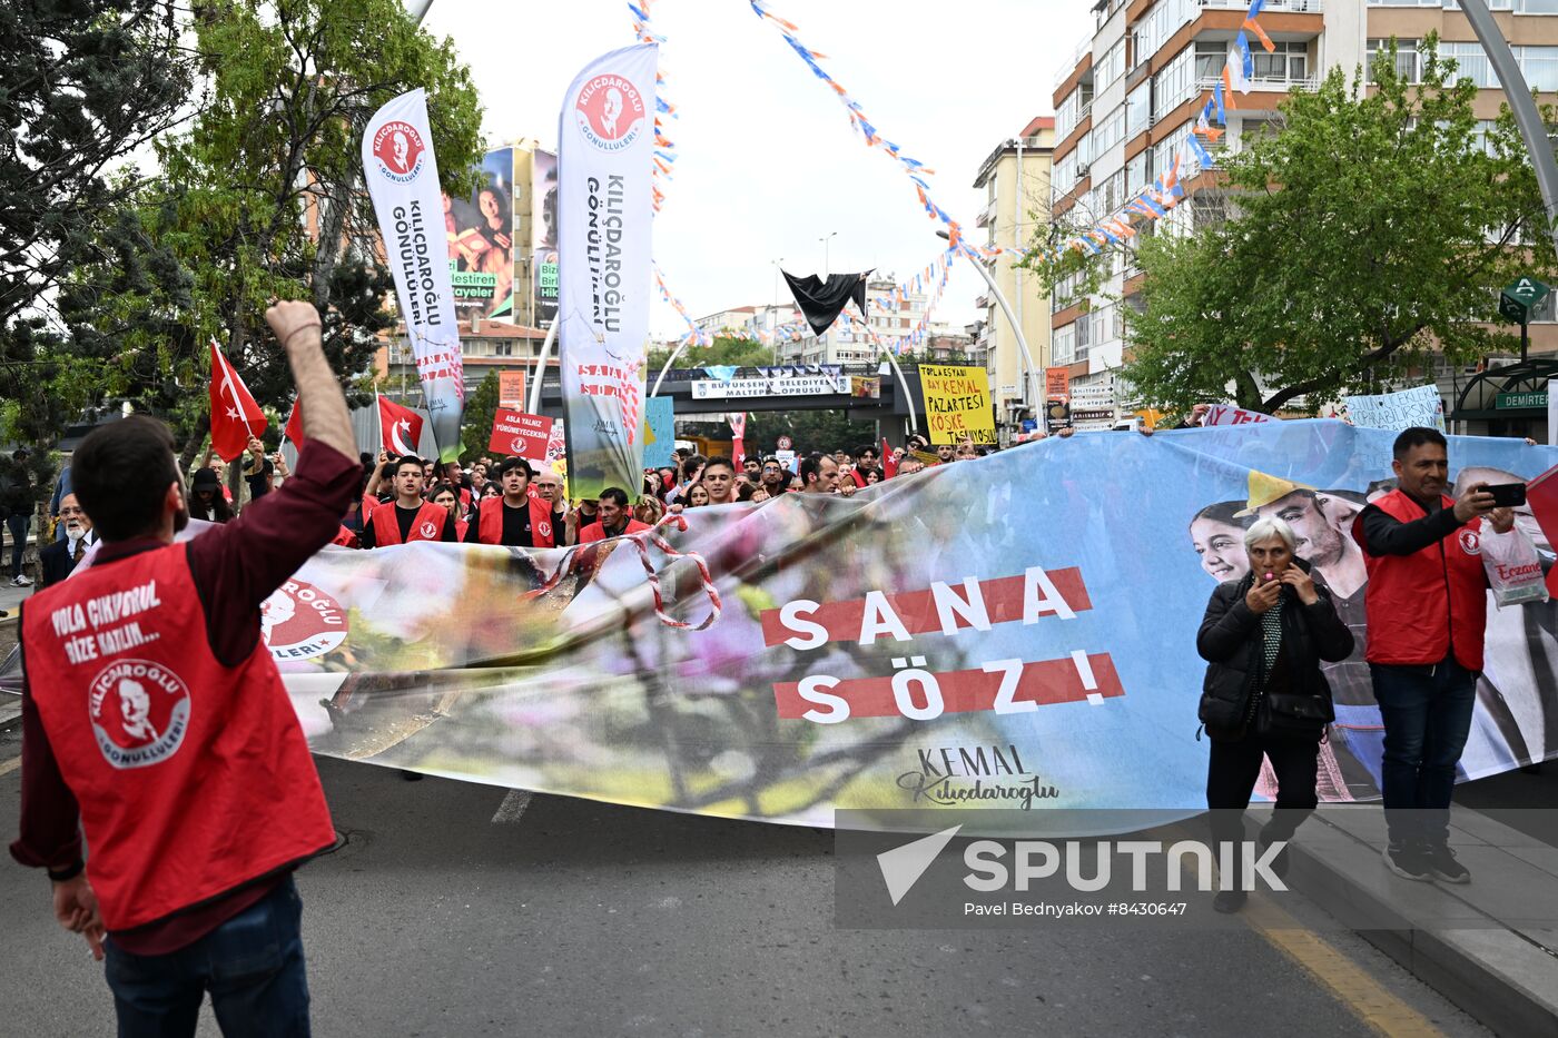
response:
{"label": "grey sidewalk under the man photographing with his phone", "polygon": [[1494,1032],[1558,1036],[1558,848],[1460,806],[1450,846],[1469,884],[1401,879],[1384,846],[1377,804],[1323,806],[1287,882]]}

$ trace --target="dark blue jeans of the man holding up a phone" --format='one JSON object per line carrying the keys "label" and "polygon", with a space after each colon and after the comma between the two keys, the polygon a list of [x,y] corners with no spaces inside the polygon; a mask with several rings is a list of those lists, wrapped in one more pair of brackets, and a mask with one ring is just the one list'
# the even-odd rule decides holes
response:
{"label": "dark blue jeans of the man holding up a phone", "polygon": [[1477,675],[1454,658],[1435,667],[1369,664],[1385,720],[1385,823],[1391,842],[1444,843],[1455,765],[1477,704]]}

